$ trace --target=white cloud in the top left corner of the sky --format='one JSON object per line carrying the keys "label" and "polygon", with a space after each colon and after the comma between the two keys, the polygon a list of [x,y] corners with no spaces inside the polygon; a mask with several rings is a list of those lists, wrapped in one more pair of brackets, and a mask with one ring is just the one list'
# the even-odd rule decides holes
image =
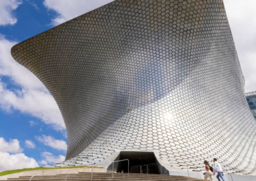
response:
{"label": "white cloud in the top left corner of the sky", "polygon": [[22,4],[22,1],[19,0],[0,1],[0,25],[13,25],[17,22],[13,11],[16,10],[20,4]]}

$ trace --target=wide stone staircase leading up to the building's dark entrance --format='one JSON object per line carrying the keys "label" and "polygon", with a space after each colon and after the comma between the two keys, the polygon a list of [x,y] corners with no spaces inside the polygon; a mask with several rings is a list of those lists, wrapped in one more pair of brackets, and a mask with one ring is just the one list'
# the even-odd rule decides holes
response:
{"label": "wide stone staircase leading up to the building's dark entrance", "polygon": [[[66,179],[67,176],[67,179]],[[143,181],[202,181],[202,179],[184,177],[184,176],[175,176],[175,175],[157,175],[157,174],[137,174],[137,173],[86,173],[79,172],[76,174],[58,174],[58,175],[43,175],[35,176],[31,181],[65,181],[65,180],[92,180],[93,181],[134,181],[134,180],[143,180]],[[8,178],[10,181],[29,181],[31,177],[19,177],[19,178]],[[3,180],[0,180],[3,181]]]}

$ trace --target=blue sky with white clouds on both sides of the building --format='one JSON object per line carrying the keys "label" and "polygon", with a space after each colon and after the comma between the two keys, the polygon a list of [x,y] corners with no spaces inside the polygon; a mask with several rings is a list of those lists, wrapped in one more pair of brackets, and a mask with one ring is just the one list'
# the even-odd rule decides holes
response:
{"label": "blue sky with white clouds on both sides of the building", "polygon": [[[65,160],[67,133],[45,86],[12,59],[13,45],[109,0],[0,0],[0,171]],[[245,78],[256,91],[256,1],[224,0]]]}

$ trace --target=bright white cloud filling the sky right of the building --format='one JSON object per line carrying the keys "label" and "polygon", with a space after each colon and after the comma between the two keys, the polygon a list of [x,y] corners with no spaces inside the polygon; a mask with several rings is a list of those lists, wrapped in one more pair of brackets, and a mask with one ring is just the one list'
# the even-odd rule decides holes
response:
{"label": "bright white cloud filling the sky right of the building", "polygon": [[256,1],[225,0],[228,22],[245,79],[245,92],[256,91]]}

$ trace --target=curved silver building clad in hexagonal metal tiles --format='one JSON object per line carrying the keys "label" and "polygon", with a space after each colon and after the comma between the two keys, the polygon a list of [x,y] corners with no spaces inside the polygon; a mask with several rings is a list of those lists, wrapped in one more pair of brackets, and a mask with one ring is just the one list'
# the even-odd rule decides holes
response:
{"label": "curved silver building clad in hexagonal metal tiles", "polygon": [[[66,161],[256,172],[256,122],[222,0],[116,0],[12,48],[65,120]],[[127,171],[119,163],[116,171]]]}

